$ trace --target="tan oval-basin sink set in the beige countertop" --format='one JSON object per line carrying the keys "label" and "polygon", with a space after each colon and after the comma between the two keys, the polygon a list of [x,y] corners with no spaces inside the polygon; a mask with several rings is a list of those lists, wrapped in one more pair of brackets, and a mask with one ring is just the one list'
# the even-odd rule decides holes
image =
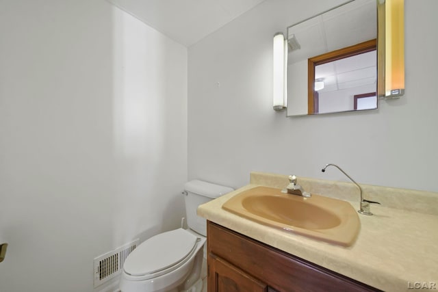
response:
{"label": "tan oval-basin sink set in the beige countertop", "polygon": [[312,194],[304,198],[273,187],[254,187],[233,196],[222,208],[266,226],[349,246],[360,229],[349,202]]}

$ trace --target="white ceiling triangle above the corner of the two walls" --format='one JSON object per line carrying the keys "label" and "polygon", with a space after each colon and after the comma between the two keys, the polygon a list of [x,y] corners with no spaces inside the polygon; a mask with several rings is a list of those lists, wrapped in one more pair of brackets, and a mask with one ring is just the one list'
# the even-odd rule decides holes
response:
{"label": "white ceiling triangle above the corner of the two walls", "polygon": [[190,47],[265,0],[107,0]]}

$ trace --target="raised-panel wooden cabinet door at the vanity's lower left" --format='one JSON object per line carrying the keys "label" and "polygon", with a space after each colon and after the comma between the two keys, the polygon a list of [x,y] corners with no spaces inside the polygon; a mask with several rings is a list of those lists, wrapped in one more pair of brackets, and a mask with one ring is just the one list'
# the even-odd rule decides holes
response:
{"label": "raised-panel wooden cabinet door at the vanity's lower left", "polygon": [[208,265],[208,292],[268,291],[266,284],[214,254],[209,254]]}

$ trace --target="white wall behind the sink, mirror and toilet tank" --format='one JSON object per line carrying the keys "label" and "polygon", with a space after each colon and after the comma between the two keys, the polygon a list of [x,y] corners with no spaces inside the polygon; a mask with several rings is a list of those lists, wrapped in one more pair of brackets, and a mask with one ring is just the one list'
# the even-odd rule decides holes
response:
{"label": "white wall behind the sink, mirror and toilet tank", "polygon": [[438,191],[438,1],[405,1],[406,94],[376,111],[272,110],[272,37],[342,3],[267,0],[189,48],[189,178],[240,187],[250,171]]}

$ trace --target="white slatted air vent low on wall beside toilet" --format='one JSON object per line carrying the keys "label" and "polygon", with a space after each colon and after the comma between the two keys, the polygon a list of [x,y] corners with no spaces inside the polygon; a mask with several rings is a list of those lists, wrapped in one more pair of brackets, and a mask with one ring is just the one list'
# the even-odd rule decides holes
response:
{"label": "white slatted air vent low on wall beside toilet", "polygon": [[94,288],[98,287],[122,271],[127,256],[138,246],[140,239],[94,258]]}

